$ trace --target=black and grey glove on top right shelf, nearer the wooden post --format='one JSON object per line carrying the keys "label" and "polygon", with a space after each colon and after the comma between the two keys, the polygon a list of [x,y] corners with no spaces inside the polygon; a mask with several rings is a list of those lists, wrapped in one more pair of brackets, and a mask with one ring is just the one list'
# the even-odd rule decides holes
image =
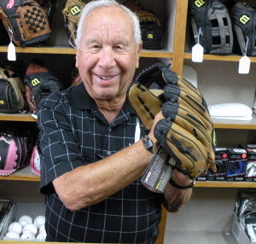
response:
{"label": "black and grey glove on top right shelf, nearer the wooden post", "polygon": [[[189,0],[189,17],[195,43],[200,38],[205,53],[212,55],[232,53],[232,24],[224,3],[218,0]],[[200,28],[202,34],[198,37]]]}

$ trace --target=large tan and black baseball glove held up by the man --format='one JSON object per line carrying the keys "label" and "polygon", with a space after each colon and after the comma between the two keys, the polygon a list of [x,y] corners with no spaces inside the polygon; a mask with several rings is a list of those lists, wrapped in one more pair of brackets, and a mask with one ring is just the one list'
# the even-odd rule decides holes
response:
{"label": "large tan and black baseball glove held up by the man", "polygon": [[[174,167],[191,179],[209,167],[216,171],[215,133],[201,92],[163,63],[143,70],[135,81],[128,94],[131,105],[148,130],[155,114],[163,113],[165,119],[156,124],[154,137],[176,161]],[[148,90],[154,82],[162,88],[159,96]]]}

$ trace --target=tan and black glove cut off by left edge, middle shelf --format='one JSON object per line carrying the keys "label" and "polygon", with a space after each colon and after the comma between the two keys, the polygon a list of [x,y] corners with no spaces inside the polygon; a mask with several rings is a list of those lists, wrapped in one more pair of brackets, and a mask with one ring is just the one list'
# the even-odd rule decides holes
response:
{"label": "tan and black glove cut off by left edge, middle shelf", "polygon": [[0,67],[0,113],[25,111],[25,89],[20,75],[9,68]]}

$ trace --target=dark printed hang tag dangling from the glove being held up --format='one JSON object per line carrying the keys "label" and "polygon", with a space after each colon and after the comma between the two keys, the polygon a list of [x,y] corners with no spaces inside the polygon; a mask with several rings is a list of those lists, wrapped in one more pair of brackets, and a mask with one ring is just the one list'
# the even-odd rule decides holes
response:
{"label": "dark printed hang tag dangling from the glove being held up", "polygon": [[159,146],[143,173],[141,178],[143,185],[155,193],[162,194],[170,180],[172,166],[175,164],[173,161],[171,156]]}

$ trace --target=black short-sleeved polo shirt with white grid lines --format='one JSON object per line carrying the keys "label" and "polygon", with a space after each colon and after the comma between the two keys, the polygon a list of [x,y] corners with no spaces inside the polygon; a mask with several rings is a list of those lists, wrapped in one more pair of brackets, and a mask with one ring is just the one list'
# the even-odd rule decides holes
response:
{"label": "black short-sleeved polo shirt with white grid lines", "polygon": [[[109,125],[84,84],[40,102],[40,190],[46,200],[47,241],[154,243],[161,195],[144,188],[139,179],[106,200],[75,212],[63,206],[52,185],[55,177],[131,145],[136,125],[137,115],[128,101]],[[141,131],[143,136],[142,125]]]}

